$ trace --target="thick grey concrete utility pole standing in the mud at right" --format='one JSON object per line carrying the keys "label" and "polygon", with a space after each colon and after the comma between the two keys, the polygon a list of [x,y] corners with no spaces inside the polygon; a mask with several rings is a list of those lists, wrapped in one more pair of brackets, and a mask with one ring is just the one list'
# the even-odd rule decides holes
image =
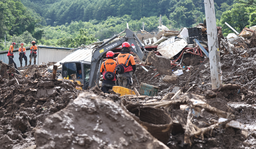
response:
{"label": "thick grey concrete utility pole standing in the mud at right", "polygon": [[[219,44],[217,38],[217,27],[213,0],[204,0],[206,15],[207,38],[209,47],[209,60],[211,69],[212,89],[217,89],[222,85]],[[211,50],[211,51],[210,51]]]}

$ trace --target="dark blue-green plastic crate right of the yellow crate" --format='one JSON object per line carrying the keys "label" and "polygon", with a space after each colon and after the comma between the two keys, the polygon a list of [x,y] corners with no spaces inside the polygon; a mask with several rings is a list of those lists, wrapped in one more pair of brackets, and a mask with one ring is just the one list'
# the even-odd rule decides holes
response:
{"label": "dark blue-green plastic crate right of the yellow crate", "polygon": [[139,93],[140,95],[146,95],[146,96],[157,96],[159,87],[149,85],[146,83],[141,83]]}

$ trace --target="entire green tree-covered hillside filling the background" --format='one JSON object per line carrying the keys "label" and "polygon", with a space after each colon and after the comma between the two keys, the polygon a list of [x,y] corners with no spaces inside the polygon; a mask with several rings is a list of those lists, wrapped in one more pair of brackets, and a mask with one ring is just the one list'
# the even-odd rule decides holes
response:
{"label": "entire green tree-covered hillside filling the background", "polygon": [[[75,38],[99,40],[126,28],[151,32],[159,25],[169,29],[193,27],[205,19],[203,0],[0,0],[0,35],[7,40],[37,40],[37,44],[74,47]],[[22,5],[23,4],[23,5]],[[216,22],[224,35],[256,25],[255,0],[215,0]],[[82,32],[80,29],[83,29]],[[25,32],[26,31],[26,32]],[[0,36],[3,42],[4,36]],[[26,38],[28,37],[28,38]],[[86,37],[86,38],[84,38]],[[79,39],[80,40],[80,39]],[[63,43],[63,41],[67,41]],[[82,42],[82,41],[81,41]],[[84,41],[89,43],[87,41]],[[3,44],[0,44],[3,49]]]}

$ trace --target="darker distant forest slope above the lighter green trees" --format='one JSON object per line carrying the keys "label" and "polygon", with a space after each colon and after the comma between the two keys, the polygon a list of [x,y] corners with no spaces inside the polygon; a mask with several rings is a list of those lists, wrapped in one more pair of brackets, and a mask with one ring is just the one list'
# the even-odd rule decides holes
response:
{"label": "darker distant forest slope above the lighter green trees", "polygon": [[[21,0],[47,25],[56,26],[71,21],[106,20],[108,16],[130,15],[132,20],[166,15],[173,27],[191,26],[204,19],[203,0]],[[233,0],[216,0],[216,17],[231,9]]]}

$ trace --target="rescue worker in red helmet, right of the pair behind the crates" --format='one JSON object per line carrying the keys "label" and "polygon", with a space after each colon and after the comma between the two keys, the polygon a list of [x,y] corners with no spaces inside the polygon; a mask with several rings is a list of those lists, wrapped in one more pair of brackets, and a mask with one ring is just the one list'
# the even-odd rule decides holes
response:
{"label": "rescue worker in red helmet, right of the pair behind the crates", "polygon": [[136,71],[136,64],[134,57],[131,53],[131,45],[128,42],[122,44],[121,53],[116,58],[118,66],[116,66],[116,72],[118,73],[118,79],[116,81],[117,86],[125,88],[132,88],[132,75]]}

